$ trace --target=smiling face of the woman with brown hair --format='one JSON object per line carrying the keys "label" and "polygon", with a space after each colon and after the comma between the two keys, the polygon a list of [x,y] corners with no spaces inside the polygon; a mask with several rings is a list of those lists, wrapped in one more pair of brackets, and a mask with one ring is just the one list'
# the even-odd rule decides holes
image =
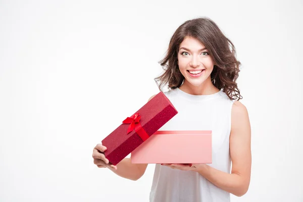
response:
{"label": "smiling face of the woman with brown hair", "polygon": [[178,65],[181,74],[185,77],[184,84],[189,82],[194,86],[201,85],[214,68],[214,62],[208,50],[199,40],[185,37],[179,46]]}

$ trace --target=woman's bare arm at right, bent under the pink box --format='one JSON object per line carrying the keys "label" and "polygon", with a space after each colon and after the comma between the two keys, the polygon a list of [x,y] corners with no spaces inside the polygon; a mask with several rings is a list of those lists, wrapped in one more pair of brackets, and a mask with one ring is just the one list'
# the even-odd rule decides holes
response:
{"label": "woman's bare arm at right, bent under the pink box", "polygon": [[231,117],[231,173],[225,173],[206,164],[196,166],[196,171],[219,188],[242,196],[247,192],[250,182],[250,123],[247,110],[240,102],[233,104]]}

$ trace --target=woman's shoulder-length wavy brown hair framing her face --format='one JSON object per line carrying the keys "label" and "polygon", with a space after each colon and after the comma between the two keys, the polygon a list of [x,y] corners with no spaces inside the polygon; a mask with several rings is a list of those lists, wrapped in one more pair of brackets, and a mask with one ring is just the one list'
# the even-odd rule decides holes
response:
{"label": "woman's shoulder-length wavy brown hair framing her face", "polygon": [[180,43],[186,36],[196,38],[203,43],[213,58],[215,65],[211,73],[212,83],[223,90],[230,99],[242,99],[236,83],[241,63],[236,59],[235,47],[218,25],[207,17],[185,21],[175,31],[170,39],[166,56],[159,62],[164,70],[162,75],[155,78],[159,89],[162,91],[166,84],[169,89],[182,85],[184,76],[179,70],[177,61]]}

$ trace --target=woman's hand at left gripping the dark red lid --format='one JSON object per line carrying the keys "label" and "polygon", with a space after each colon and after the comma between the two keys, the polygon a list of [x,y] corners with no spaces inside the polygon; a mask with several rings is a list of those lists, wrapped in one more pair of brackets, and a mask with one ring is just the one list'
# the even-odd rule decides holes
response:
{"label": "woman's hand at left gripping the dark red lid", "polygon": [[112,168],[117,170],[117,166],[110,164],[109,160],[105,158],[104,151],[107,149],[102,143],[97,144],[92,151],[93,163],[98,168]]}

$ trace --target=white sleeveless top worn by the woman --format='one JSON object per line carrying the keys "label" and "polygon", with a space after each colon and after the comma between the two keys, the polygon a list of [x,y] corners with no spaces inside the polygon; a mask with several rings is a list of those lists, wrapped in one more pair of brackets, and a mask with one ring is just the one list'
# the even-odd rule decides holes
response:
{"label": "white sleeveless top worn by the woman", "polygon": [[[212,130],[212,164],[230,173],[230,100],[222,90],[210,95],[192,95],[179,88],[164,92],[178,114],[159,130]],[[180,148],[182,149],[182,148]],[[156,164],[149,201],[151,202],[227,202],[230,193],[218,188],[199,173],[181,171]]]}

